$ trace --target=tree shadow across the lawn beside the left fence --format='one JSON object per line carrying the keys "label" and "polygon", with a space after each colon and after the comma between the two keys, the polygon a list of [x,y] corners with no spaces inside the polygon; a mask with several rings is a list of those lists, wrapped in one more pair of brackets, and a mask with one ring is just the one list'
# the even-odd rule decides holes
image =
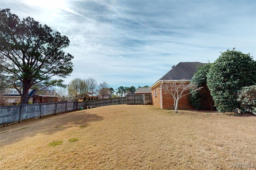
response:
{"label": "tree shadow across the lawn beside the left fence", "polygon": [[102,120],[103,117],[97,114],[90,114],[87,111],[61,113],[1,127],[0,141],[3,146],[38,134],[52,135],[59,131],[65,131],[70,127],[81,129],[81,127],[89,126],[90,122]]}

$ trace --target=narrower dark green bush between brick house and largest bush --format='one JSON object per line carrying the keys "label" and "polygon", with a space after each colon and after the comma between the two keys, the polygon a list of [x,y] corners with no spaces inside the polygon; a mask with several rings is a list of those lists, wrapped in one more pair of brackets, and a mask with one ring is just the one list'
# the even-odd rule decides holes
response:
{"label": "narrower dark green bush between brick house and largest bush", "polygon": [[207,74],[209,72],[211,63],[207,63],[198,68],[198,71],[192,77],[191,83],[196,84],[197,87],[204,87],[200,91],[192,92],[190,102],[196,109],[211,109],[213,110],[213,99],[210,90],[206,84]]}

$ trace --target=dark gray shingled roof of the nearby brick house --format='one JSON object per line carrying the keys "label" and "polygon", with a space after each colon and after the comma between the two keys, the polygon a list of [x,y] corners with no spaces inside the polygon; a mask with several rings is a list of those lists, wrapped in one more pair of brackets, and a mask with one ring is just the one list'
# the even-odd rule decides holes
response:
{"label": "dark gray shingled roof of the nearby brick house", "polygon": [[204,65],[206,63],[200,62],[181,62],[178,63],[174,68],[168,71],[159,80],[191,80],[197,71],[198,65]]}

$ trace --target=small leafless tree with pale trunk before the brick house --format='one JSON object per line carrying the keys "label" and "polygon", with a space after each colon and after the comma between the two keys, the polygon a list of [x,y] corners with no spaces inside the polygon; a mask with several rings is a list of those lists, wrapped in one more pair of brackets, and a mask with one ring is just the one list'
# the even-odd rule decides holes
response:
{"label": "small leafless tree with pale trunk before the brick house", "polygon": [[[178,113],[178,102],[180,98],[200,90],[202,87],[197,87],[195,84],[188,83],[184,79],[180,80],[179,82],[169,82],[169,81],[164,81],[163,82],[163,91],[167,92],[172,95],[173,100],[174,100],[174,110],[175,113]],[[184,93],[187,90],[190,90],[188,93]]]}

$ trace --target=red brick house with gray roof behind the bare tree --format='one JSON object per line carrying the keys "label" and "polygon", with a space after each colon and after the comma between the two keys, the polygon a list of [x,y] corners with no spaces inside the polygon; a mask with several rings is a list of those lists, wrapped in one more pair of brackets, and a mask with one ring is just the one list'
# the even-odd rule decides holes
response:
{"label": "red brick house with gray roof behind the bare tree", "polygon": [[[156,81],[151,87],[152,104],[162,109],[174,109],[174,100],[171,94],[163,92],[164,82],[179,82],[185,80],[189,83],[198,70],[197,66],[204,65],[205,63],[199,62],[181,62],[176,66],[172,66],[172,69]],[[184,93],[188,93],[189,90]],[[180,98],[178,102],[179,109],[192,109],[193,106],[189,102],[190,95],[186,95]]]}

